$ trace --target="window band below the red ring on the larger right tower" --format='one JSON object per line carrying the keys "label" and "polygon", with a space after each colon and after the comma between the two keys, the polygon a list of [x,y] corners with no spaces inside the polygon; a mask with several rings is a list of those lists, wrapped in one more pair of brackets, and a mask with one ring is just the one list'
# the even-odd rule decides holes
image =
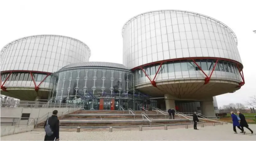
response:
{"label": "window band below the red ring on the larger right tower", "polygon": [[[204,71],[213,70],[213,67],[216,63],[216,60],[214,59],[196,59],[195,61]],[[147,75],[154,76],[159,67],[160,65],[152,65],[144,67],[144,70]],[[242,70],[242,68],[239,69]],[[242,79],[239,74],[239,69],[237,65],[233,62],[219,60],[215,67],[216,74],[213,74],[212,78],[230,78],[237,81],[241,81]],[[157,76],[157,79],[164,80],[175,78],[205,77],[203,74],[199,75],[195,71],[200,71],[200,68],[192,60],[172,61],[162,64],[158,73],[162,75]],[[148,79],[145,76],[145,73],[141,69],[135,70],[134,78],[135,86],[137,84],[148,81]]]}

